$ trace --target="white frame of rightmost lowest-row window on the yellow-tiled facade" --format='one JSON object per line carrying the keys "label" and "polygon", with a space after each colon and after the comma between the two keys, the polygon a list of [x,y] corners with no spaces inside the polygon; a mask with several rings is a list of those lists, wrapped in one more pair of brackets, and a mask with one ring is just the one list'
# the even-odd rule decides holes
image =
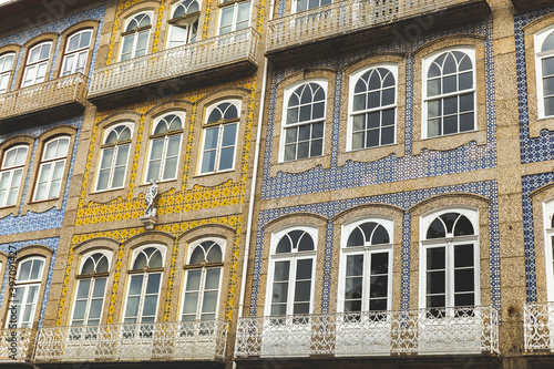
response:
{"label": "white frame of rightmost lowest-row window on the yellow-tiled facade", "polygon": [[[202,239],[197,239],[195,240],[194,243],[191,243],[189,247],[188,247],[188,255],[186,257],[186,265],[191,265],[191,257],[193,255],[193,252],[196,249],[196,247],[199,246],[199,244],[204,243],[204,242],[214,242],[216,243],[217,245],[219,245],[219,248],[222,249],[222,265],[220,266],[214,266],[214,264],[206,264],[206,265],[202,265],[201,267],[198,268],[186,268],[185,269],[185,275],[183,277],[183,288],[182,288],[182,298],[181,298],[181,308],[179,308],[179,315],[178,315],[178,319],[182,320],[183,318],[183,310],[185,308],[185,293],[186,293],[186,284],[187,284],[187,279],[188,279],[188,273],[191,270],[202,270],[201,271],[201,283],[199,283],[199,288],[198,288],[198,301],[197,301],[197,306],[196,306],[196,320],[202,320],[201,319],[201,316],[202,316],[202,305],[203,305],[203,301],[204,301],[204,294],[206,291],[205,289],[205,284],[206,284],[206,273],[208,269],[215,269],[215,268],[219,268],[219,283],[218,283],[218,287],[217,287],[217,303],[216,303],[216,310],[215,310],[215,318],[214,320],[216,320],[218,318],[218,312],[219,312],[219,304],[220,304],[220,298],[222,298],[222,281],[223,281],[223,263],[225,262],[225,249],[226,249],[226,240],[225,238],[219,238],[219,237],[206,237],[206,238],[202,238]],[[188,320],[183,320],[183,321],[188,321]]]}

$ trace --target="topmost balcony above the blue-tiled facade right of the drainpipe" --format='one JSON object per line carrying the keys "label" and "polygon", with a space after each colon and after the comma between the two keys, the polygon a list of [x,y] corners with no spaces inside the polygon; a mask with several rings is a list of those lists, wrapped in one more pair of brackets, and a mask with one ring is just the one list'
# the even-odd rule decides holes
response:
{"label": "topmost balcony above the blue-tiled facade right of the drainpipe", "polygon": [[268,23],[266,54],[289,65],[378,44],[410,41],[485,19],[486,0],[345,0]]}

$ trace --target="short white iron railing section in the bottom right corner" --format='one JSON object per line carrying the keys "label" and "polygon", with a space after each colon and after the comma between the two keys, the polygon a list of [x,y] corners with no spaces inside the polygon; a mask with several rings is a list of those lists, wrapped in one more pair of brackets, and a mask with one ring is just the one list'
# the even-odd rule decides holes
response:
{"label": "short white iron railing section in the bottom right corner", "polygon": [[554,350],[554,303],[526,303],[523,309],[525,350]]}

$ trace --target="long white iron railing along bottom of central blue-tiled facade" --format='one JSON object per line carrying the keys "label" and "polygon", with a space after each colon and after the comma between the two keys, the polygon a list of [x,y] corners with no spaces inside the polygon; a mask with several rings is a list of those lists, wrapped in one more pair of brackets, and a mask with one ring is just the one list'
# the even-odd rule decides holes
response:
{"label": "long white iron railing along bottom of central blue-tiled facade", "polygon": [[488,306],[239,318],[236,357],[500,353]]}

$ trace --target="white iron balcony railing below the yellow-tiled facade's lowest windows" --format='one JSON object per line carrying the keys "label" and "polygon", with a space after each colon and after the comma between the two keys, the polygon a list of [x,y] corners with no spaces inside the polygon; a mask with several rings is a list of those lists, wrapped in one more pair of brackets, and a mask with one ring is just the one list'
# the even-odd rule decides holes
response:
{"label": "white iron balcony railing below the yellow-tiled facade's lowest windows", "polygon": [[225,359],[228,322],[164,321],[42,328],[35,361]]}

